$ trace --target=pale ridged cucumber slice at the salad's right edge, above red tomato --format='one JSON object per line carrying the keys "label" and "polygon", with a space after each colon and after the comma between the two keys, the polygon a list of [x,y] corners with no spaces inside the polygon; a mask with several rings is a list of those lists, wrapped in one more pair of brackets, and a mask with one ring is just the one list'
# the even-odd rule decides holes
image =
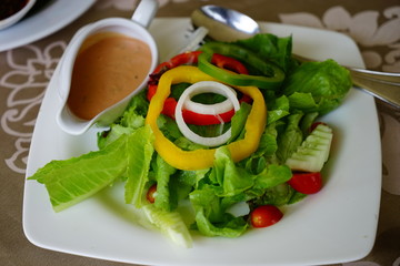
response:
{"label": "pale ridged cucumber slice at the salad's right edge, above red tomato", "polygon": [[286,165],[293,171],[320,172],[328,161],[332,137],[332,129],[319,124],[286,161]]}

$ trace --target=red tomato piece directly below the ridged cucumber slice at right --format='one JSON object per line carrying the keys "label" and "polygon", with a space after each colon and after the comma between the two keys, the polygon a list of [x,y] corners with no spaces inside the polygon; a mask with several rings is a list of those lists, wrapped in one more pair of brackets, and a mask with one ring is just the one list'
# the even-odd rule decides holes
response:
{"label": "red tomato piece directly below the ridged cucumber slice at right", "polygon": [[321,173],[294,173],[288,184],[300,193],[314,194],[322,187]]}

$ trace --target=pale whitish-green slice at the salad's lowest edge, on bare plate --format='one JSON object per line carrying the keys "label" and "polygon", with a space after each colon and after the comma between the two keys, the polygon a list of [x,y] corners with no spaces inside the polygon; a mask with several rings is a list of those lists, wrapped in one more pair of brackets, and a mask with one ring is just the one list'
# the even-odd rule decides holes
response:
{"label": "pale whitish-green slice at the salad's lowest edge, on bare plate", "polygon": [[174,244],[182,247],[192,247],[192,237],[178,212],[166,212],[157,208],[153,204],[146,204],[142,207],[146,216]]}

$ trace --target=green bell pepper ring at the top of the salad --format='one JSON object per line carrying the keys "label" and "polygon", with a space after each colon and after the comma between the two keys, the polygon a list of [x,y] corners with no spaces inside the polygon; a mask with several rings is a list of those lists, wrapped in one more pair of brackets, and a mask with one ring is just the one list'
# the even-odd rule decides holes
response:
{"label": "green bell pepper ring at the top of the salad", "polygon": [[[251,85],[260,89],[274,90],[280,88],[284,80],[284,72],[278,65],[260,59],[256,53],[237,44],[209,42],[203,44],[200,50],[202,53],[198,59],[198,68],[214,79],[230,85]],[[211,63],[214,53],[247,62],[249,65],[259,70],[263,75],[237,74],[220,69]]]}

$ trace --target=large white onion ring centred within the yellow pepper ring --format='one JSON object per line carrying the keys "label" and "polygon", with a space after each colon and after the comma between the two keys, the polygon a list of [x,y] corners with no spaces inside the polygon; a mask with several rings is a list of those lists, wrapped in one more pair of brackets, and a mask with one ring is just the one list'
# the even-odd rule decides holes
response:
{"label": "large white onion ring centred within the yellow pepper ring", "polygon": [[[200,93],[221,94],[221,95],[226,96],[227,100],[232,103],[234,111],[238,111],[240,109],[240,104],[239,104],[239,101],[237,99],[237,95],[236,95],[236,92],[233,89],[231,89],[222,83],[214,82],[214,81],[200,81],[200,82],[197,82],[197,83],[190,85],[188,89],[186,89],[183,91],[182,95],[179,98],[179,101],[178,101],[178,104],[176,108],[176,112],[174,112],[178,127],[188,140],[194,142],[197,144],[204,145],[204,146],[221,145],[230,139],[231,129],[229,129],[227,132],[224,132],[223,134],[221,134],[219,136],[204,137],[204,136],[201,136],[201,135],[192,132],[183,120],[182,108],[183,108],[184,102],[188,101],[188,99],[191,99],[192,96],[200,94]],[[214,113],[212,113],[212,114],[214,114]]]}

